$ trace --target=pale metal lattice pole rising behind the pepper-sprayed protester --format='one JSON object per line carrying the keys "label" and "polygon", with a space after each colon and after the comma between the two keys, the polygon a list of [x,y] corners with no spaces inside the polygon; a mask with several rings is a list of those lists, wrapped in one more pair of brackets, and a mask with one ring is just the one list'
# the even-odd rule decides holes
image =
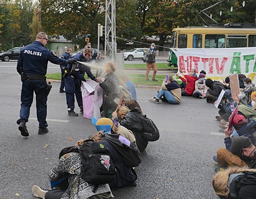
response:
{"label": "pale metal lattice pole rising behind the pepper-sprayed protester", "polygon": [[116,0],[106,0],[105,56],[115,60],[116,55]]}

